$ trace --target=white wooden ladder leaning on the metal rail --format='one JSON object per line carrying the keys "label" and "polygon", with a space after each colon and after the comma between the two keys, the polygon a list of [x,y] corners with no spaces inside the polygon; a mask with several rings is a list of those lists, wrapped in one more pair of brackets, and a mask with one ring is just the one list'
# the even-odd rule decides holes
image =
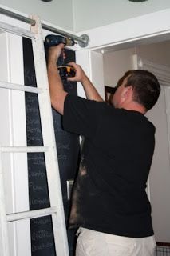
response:
{"label": "white wooden ladder leaning on the metal rail", "polygon": [[[42,25],[40,19],[32,17],[36,21],[30,30],[23,30],[16,26],[10,26],[0,22],[0,29],[32,40],[34,52],[34,66],[37,80],[37,88],[21,86],[8,82],[0,82],[1,88],[11,90],[23,90],[38,94],[40,118],[42,123],[42,138],[44,146],[0,146],[0,255],[12,256],[9,250],[7,223],[22,219],[38,218],[46,215],[52,216],[53,236],[57,256],[69,256],[69,246],[65,227],[65,214],[62,202],[61,183],[57,162],[57,150],[53,130],[53,117],[49,98],[49,86],[45,65],[45,52],[42,40]],[[41,210],[31,210],[15,214],[6,214],[6,200],[3,182],[2,154],[4,152],[44,152],[47,181],[49,187],[50,207]]]}

